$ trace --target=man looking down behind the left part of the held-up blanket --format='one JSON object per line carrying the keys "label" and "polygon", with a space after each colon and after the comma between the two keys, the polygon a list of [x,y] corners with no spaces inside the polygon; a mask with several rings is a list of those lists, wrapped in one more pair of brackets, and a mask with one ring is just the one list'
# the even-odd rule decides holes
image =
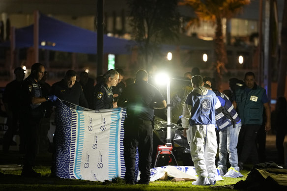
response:
{"label": "man looking down behind the left part of the held-up blanket", "polygon": [[89,108],[82,86],[80,82],[76,81],[76,77],[76,71],[68,70],[64,79],[52,85],[52,94],[66,102]]}

